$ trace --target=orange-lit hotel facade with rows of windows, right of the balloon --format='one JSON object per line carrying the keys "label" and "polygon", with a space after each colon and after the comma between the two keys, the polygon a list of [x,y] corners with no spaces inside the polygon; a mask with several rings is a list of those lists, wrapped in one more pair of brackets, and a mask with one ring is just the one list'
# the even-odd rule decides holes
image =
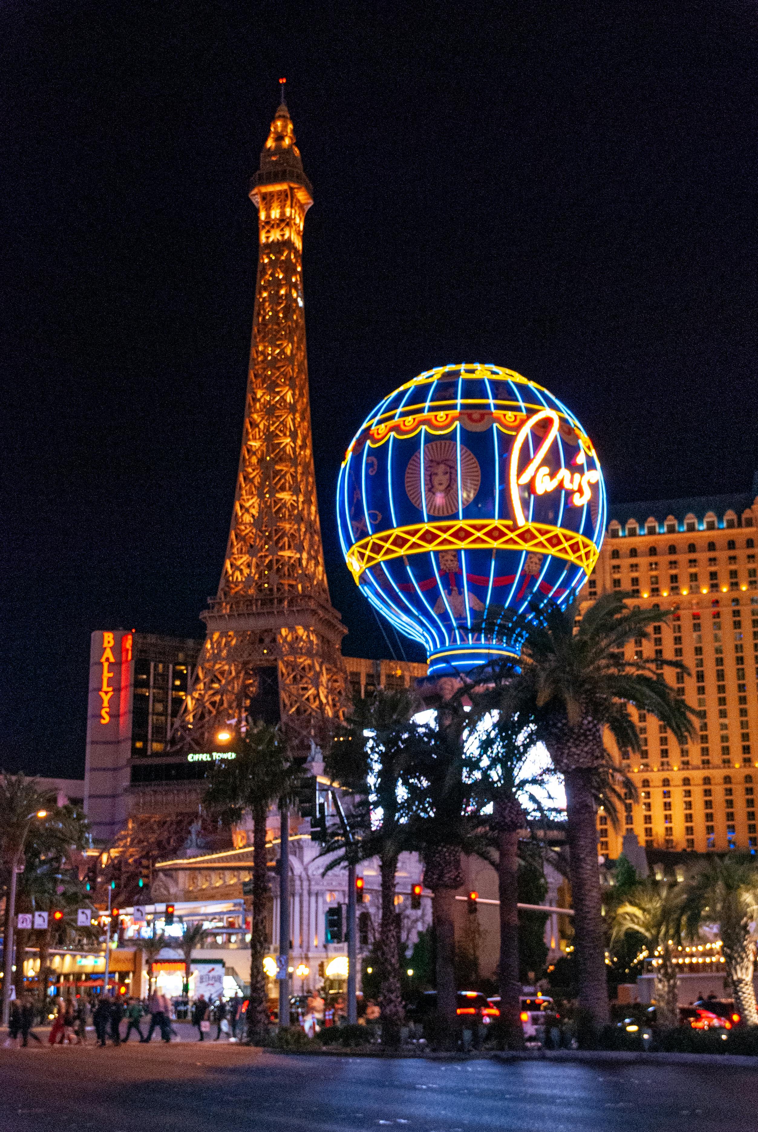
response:
{"label": "orange-lit hotel facade with rows of windows, right of the balloon", "polygon": [[[618,857],[631,832],[648,849],[756,849],[758,475],[742,495],[620,504],[609,514],[585,593],[621,590],[635,606],[661,610],[649,640],[631,641],[627,658],[651,660],[697,717],[695,737],[680,746],[632,710],[643,751],[621,752],[619,762],[639,800],[627,798],[618,832],[601,809],[600,852]],[[683,661],[689,675],[664,660]]]}

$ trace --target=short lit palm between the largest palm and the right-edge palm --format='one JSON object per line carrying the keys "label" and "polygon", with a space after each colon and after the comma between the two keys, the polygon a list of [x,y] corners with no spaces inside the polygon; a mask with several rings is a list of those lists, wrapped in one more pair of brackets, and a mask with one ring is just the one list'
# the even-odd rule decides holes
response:
{"label": "short lit palm between the largest palm and the right-edge palm", "polygon": [[656,881],[636,884],[613,914],[611,945],[627,935],[641,935],[655,955],[655,1012],[662,1026],[679,1023],[679,979],[675,937],[682,890]]}

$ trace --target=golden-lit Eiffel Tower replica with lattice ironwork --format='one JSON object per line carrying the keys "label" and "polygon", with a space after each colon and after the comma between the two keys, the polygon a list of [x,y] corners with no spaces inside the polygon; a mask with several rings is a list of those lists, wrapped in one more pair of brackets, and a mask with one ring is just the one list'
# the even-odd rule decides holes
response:
{"label": "golden-lit Eiffel Tower replica with lattice ironwork", "polygon": [[316,498],[308,395],[302,234],[311,185],[286,105],[250,182],[258,277],[234,512],[218,593],[175,739],[210,749],[247,714],[307,749],[345,689]]}

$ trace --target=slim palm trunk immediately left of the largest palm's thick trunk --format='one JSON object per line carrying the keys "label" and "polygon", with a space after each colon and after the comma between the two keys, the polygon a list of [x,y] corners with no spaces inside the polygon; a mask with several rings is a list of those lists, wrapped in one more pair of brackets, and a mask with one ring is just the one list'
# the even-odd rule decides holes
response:
{"label": "slim palm trunk immediately left of the largest palm's thick trunk", "polygon": [[519,1019],[522,981],[518,961],[518,830],[498,832],[500,898],[500,1031],[506,1048],[524,1048]]}

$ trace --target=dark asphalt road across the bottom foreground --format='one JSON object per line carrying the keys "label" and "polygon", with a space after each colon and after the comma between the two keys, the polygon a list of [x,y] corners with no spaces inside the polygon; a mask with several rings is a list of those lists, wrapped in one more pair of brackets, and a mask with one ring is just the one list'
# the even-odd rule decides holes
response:
{"label": "dark asphalt road across the bottom foreground", "polygon": [[734,1132],[751,1070],[292,1056],[178,1043],[0,1049],[2,1132]]}

